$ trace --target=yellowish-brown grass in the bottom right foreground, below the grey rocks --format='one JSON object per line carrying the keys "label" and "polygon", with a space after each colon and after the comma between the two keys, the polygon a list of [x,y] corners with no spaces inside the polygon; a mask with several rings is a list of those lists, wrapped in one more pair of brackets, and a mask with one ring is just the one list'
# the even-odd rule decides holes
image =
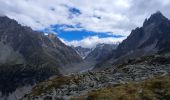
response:
{"label": "yellowish-brown grass in the bottom right foreground, below the grey rocks", "polygon": [[72,100],[170,100],[170,76],[110,86],[73,97]]}

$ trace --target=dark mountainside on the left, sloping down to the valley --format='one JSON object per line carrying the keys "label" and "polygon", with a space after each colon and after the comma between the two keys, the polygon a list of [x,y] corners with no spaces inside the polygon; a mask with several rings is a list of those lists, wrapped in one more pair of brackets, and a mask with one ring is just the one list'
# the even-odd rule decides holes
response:
{"label": "dark mountainside on the left, sloping down to the valley", "polygon": [[71,47],[62,43],[54,34],[45,36],[2,16],[0,48],[2,94],[59,75],[62,66],[82,61]]}

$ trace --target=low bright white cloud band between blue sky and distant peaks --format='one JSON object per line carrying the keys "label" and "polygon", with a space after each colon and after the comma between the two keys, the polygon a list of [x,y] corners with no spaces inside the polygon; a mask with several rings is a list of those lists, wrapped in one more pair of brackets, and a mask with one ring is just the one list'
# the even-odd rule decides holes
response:
{"label": "low bright white cloud band between blue sky and distant peaks", "polygon": [[114,37],[106,37],[106,38],[99,38],[98,36],[90,36],[90,37],[86,37],[82,40],[73,40],[73,41],[66,41],[64,39],[60,40],[62,42],[64,42],[65,44],[69,45],[69,46],[82,46],[85,48],[93,48],[95,47],[97,44],[99,43],[105,43],[105,44],[115,44],[115,43],[119,43],[122,40],[124,40],[126,37],[122,37],[122,38],[114,38]]}

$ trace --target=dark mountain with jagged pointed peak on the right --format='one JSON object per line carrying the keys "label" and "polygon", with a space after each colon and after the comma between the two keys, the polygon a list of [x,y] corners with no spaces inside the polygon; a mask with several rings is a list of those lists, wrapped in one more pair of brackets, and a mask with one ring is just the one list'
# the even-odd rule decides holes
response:
{"label": "dark mountain with jagged pointed peak on the right", "polygon": [[132,30],[127,39],[120,43],[103,64],[121,63],[144,55],[169,52],[169,38],[170,21],[158,11],[146,19],[142,27]]}

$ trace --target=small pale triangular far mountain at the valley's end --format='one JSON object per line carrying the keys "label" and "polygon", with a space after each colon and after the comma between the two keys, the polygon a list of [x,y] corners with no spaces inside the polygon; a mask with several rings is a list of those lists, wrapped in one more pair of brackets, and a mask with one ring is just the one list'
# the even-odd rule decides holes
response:
{"label": "small pale triangular far mountain at the valley's end", "polygon": [[93,50],[91,48],[83,48],[81,46],[72,47],[83,59]]}

